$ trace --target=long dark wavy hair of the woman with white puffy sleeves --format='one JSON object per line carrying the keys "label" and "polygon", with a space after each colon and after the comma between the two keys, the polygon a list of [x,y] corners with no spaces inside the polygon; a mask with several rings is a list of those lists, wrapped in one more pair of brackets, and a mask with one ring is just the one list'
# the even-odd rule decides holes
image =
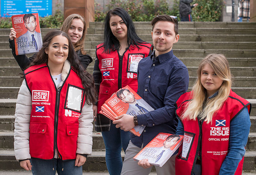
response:
{"label": "long dark wavy hair of the woman with white puffy sleeves", "polygon": [[80,64],[77,54],[73,48],[72,42],[63,31],[60,30],[52,30],[49,31],[44,39],[43,45],[40,51],[37,54],[37,57],[30,63],[29,66],[44,64],[48,62],[48,54],[45,53],[45,49],[49,47],[50,42],[52,41],[53,37],[62,35],[63,37],[68,39],[68,58],[67,60],[70,62],[71,66],[74,67],[75,71],[77,71],[78,76],[82,80],[83,87],[85,89],[86,95],[86,102],[87,104],[95,103],[96,102],[96,90],[94,86],[93,76],[86,72],[83,66]]}

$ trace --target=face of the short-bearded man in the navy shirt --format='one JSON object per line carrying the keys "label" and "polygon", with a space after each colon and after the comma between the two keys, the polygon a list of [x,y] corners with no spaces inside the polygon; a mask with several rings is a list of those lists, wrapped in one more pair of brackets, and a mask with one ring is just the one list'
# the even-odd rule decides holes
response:
{"label": "face of the short-bearded man in the navy shirt", "polygon": [[151,35],[156,57],[172,50],[173,43],[178,42],[180,37],[175,34],[174,24],[169,21],[156,22]]}

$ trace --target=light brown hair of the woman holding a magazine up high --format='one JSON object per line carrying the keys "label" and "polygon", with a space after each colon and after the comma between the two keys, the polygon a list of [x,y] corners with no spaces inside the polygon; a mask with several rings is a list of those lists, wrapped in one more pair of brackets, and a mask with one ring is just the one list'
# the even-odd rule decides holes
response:
{"label": "light brown hair of the woman holding a magazine up high", "polygon": [[85,20],[83,18],[83,16],[79,15],[79,14],[71,14],[69,15],[63,22],[60,30],[64,31],[65,33],[68,33],[68,30],[73,22],[73,19],[80,19],[83,22],[83,36],[82,38],[73,44],[73,47],[75,49],[75,52],[77,52],[78,50],[81,50],[82,54],[86,54],[86,52],[84,51],[84,39],[85,39],[85,29],[86,29],[86,23]]}

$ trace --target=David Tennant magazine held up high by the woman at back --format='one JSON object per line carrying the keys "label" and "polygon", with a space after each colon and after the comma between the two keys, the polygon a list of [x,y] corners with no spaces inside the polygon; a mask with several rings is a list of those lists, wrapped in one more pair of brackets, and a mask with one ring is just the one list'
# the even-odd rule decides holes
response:
{"label": "David Tennant magazine held up high by the woman at back", "polygon": [[16,31],[16,55],[39,52],[42,47],[42,36],[38,13],[13,15],[12,27]]}

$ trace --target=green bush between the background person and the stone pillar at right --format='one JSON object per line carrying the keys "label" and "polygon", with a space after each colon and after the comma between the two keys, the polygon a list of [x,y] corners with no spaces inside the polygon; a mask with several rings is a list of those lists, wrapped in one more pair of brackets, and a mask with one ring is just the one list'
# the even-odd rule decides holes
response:
{"label": "green bush between the background person and the stone pillar at right", "polygon": [[193,21],[219,21],[224,5],[223,0],[195,0],[197,7],[192,9]]}

